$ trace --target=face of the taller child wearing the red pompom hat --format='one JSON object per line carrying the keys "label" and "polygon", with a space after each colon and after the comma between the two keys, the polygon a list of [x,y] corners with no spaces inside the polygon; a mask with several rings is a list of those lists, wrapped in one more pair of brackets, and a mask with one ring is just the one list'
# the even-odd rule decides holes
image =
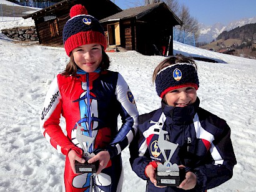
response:
{"label": "face of the taller child wearing the red pompom hat", "polygon": [[102,60],[102,47],[100,44],[86,44],[72,50],[74,61],[85,72],[94,72]]}

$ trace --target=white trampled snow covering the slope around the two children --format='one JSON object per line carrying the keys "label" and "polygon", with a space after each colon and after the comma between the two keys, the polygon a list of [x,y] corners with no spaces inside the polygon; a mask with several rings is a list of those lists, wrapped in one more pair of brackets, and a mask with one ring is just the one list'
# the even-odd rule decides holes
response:
{"label": "white trampled snow covering the slope around the two children", "polygon": [[[0,22],[0,29],[13,22]],[[21,18],[19,25],[26,22]],[[139,113],[159,108],[160,98],[151,78],[155,66],[165,57],[135,51],[107,54],[112,61],[110,69],[120,72],[129,84]],[[178,42],[174,42],[174,54],[219,61],[197,61],[197,93],[201,107],[227,120],[238,163],[231,180],[208,191],[256,191],[256,60]],[[0,192],[62,190],[64,156],[42,136],[39,117],[52,79],[64,70],[68,60],[63,48],[17,43],[0,36]],[[61,126],[64,127],[63,120]],[[128,148],[122,152],[122,158],[123,191],[145,191],[145,181],[130,168]]]}

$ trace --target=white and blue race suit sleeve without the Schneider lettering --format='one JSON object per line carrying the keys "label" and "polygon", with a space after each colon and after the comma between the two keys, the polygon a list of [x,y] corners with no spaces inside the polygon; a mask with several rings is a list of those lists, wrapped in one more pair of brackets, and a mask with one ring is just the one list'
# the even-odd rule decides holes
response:
{"label": "white and blue race suit sleeve without the Schneider lettering", "polygon": [[[135,104],[132,92],[121,74],[118,74],[116,85],[116,98],[121,103],[122,126],[114,137],[114,140],[103,150],[109,151],[111,158],[121,153],[132,141],[137,133],[139,112]],[[102,149],[97,149],[94,154]]]}

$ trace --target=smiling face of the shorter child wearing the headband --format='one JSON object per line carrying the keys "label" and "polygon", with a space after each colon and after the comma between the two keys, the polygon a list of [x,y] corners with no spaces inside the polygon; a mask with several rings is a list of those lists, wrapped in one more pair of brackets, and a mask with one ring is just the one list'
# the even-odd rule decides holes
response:
{"label": "smiling face of the shorter child wearing the headband", "polygon": [[173,107],[185,107],[197,100],[197,90],[194,87],[182,87],[165,94],[165,101]]}

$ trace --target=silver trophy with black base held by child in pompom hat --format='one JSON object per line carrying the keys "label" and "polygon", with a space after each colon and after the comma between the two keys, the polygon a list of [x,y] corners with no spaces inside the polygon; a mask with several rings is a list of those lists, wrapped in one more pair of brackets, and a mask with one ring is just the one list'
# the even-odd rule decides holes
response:
{"label": "silver trophy with black base held by child in pompom hat", "polygon": [[82,130],[84,129],[84,127],[79,126],[78,123],[76,123],[76,125],[76,138],[79,144],[82,146],[82,150],[84,151],[82,158],[86,160],[85,163],[79,163],[78,161],[75,161],[76,173],[96,173],[99,162],[87,162],[90,158],[92,158],[91,154],[88,152],[88,148],[92,145],[94,138],[83,135]]}

